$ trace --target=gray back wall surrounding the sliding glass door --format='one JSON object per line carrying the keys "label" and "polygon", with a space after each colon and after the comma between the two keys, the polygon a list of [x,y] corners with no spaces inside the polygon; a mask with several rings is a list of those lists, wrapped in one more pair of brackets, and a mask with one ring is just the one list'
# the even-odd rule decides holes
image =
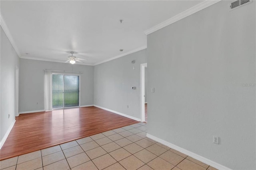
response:
{"label": "gray back wall surrounding the sliding glass door", "polygon": [[[93,66],[20,59],[19,112],[44,110],[44,70],[83,72],[80,74],[80,106],[93,104]],[[67,73],[68,74],[68,73]],[[38,102],[38,104],[37,104]]]}

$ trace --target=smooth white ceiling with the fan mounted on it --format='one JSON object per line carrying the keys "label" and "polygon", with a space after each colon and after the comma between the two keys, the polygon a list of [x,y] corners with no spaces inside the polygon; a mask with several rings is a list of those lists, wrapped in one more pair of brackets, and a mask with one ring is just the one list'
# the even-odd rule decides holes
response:
{"label": "smooth white ceiling with the fan mounted on it", "polygon": [[21,58],[65,62],[75,51],[95,65],[146,48],[145,30],[200,2],[1,0],[0,9]]}

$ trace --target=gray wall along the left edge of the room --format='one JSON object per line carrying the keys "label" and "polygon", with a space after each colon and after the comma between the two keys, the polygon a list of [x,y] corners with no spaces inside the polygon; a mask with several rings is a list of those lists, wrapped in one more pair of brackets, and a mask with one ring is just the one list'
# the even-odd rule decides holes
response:
{"label": "gray wall along the left edge of the room", "polygon": [[[1,27],[1,104],[0,104],[0,140],[6,134],[8,128],[15,119],[15,66],[19,67],[20,60],[12,44],[8,40],[4,30]],[[10,118],[8,118],[10,114]]]}

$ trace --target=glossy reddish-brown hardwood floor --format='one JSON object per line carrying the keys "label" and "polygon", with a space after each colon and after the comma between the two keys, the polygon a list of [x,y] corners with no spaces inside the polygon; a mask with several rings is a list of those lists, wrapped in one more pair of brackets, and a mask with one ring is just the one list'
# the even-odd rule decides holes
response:
{"label": "glossy reddish-brown hardwood floor", "polygon": [[138,121],[94,106],[20,114],[0,150],[0,160],[134,123]]}

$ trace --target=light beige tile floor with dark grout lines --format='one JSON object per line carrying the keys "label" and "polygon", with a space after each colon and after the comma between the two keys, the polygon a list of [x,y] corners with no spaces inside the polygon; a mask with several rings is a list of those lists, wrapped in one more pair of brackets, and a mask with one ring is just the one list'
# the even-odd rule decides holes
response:
{"label": "light beige tile floor with dark grout lines", "polygon": [[140,122],[0,162],[1,170],[216,170],[146,137]]}

